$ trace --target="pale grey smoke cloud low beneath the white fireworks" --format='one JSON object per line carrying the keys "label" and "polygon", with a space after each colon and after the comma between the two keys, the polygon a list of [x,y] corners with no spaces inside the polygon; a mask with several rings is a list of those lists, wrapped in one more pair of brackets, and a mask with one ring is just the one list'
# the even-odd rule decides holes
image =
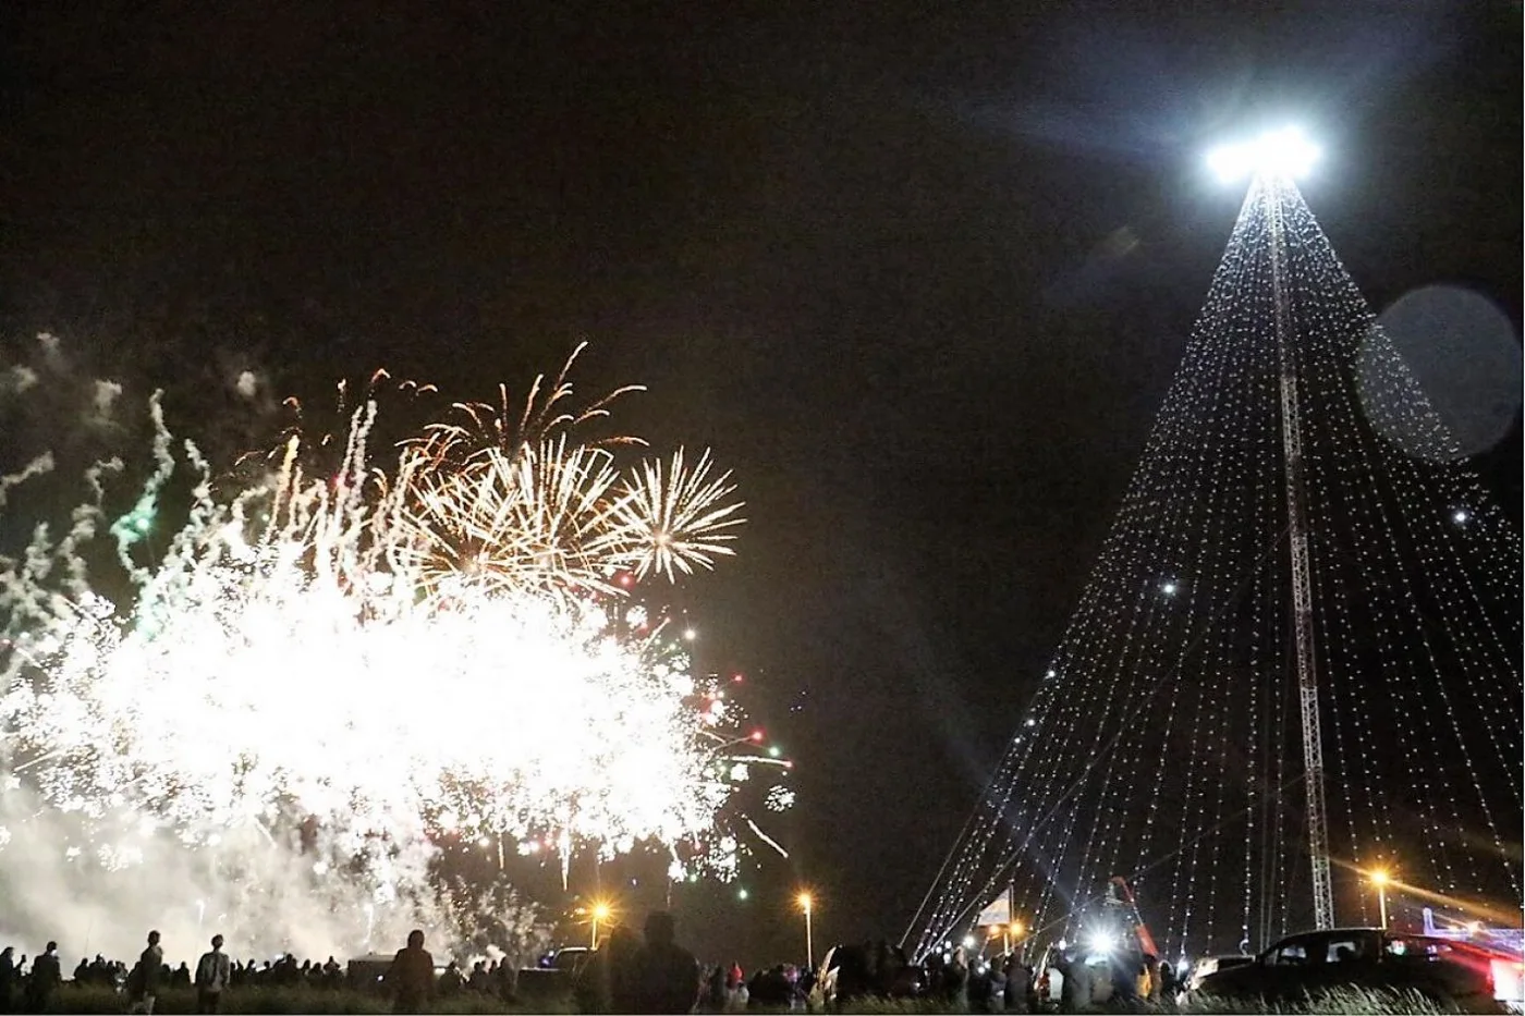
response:
{"label": "pale grey smoke cloud low beneath the white fireworks", "polygon": [[[262,828],[229,830],[217,850],[192,850],[162,828],[95,839],[79,815],[12,781],[0,796],[0,943],[35,955],[56,940],[69,966],[95,953],[131,961],[157,929],[171,963],[194,963],[214,934],[238,958],[343,960],[398,949],[412,928],[432,938],[445,931],[438,914],[378,900],[363,880],[319,876],[313,853]],[[396,863],[422,873],[429,856]]]}

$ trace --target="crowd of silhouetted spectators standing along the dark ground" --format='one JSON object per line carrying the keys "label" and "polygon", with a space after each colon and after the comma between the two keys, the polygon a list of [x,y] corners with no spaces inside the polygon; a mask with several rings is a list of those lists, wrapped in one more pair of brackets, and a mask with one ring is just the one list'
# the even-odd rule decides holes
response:
{"label": "crowd of silhouetted spectators standing along the dark ground", "polygon": [[[133,967],[96,955],[79,961],[73,981],[108,987],[124,996],[128,1013],[146,1016],[152,1016],[157,996],[171,989],[195,989],[197,1011],[217,1013],[229,989],[305,985],[337,990],[351,981],[352,970],[346,972],[334,957],[325,963],[297,963],[287,953],[274,961],[239,963],[223,944],[223,937],[214,935],[210,949],[194,970],[186,963],[171,967],[154,931]],[[604,946],[589,955],[587,963],[567,972],[573,999],[584,1013],[839,1011],[872,998],[920,999],[950,1011],[973,1013],[1035,1013],[1052,999],[1061,1013],[1080,1013],[1101,1002],[1110,1002],[1110,1008],[1171,998],[1176,989],[1168,963],[1127,950],[1119,950],[1106,966],[1064,953],[1035,973],[1016,953],[970,958],[964,949],[955,949],[912,963],[903,949],[884,941],[834,946],[814,969],[781,963],[747,976],[738,963],[702,967],[694,953],[677,943],[673,915],[660,911],[647,917],[642,937],[616,926]],[[1055,987],[1052,978],[1061,978],[1061,984]],[[47,943],[46,952],[30,961],[30,969],[26,957],[17,960],[15,950],[5,947],[0,950],[0,1013],[47,1011],[63,981],[58,943]],[[384,990],[392,996],[393,1011],[416,1013],[436,996],[464,992],[512,1004],[515,982],[515,969],[508,961],[479,960],[470,973],[451,961],[439,972],[433,955],[424,949],[424,932],[413,931],[407,946],[389,963],[380,960],[374,976],[349,985]]]}

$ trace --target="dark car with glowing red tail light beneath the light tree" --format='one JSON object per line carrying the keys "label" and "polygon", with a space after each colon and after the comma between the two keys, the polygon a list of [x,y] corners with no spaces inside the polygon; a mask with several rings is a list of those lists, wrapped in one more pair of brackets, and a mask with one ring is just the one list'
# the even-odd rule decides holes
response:
{"label": "dark car with glowing red tail light beneath the light tree", "polygon": [[1491,958],[1447,938],[1339,928],[1283,938],[1255,963],[1208,975],[1200,992],[1275,1002],[1339,989],[1418,992],[1443,1004],[1491,999]]}

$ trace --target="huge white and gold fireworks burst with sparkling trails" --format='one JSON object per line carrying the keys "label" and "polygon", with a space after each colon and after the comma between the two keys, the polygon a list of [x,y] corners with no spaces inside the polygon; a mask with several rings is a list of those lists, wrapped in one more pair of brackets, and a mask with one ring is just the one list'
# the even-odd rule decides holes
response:
{"label": "huge white and gold fireworks burst with sparkling trails", "polygon": [[[0,561],[3,761],[79,819],[70,857],[127,865],[160,834],[218,854],[253,830],[383,902],[422,891],[441,830],[552,845],[563,873],[575,850],[639,842],[714,844],[689,863],[734,871],[721,714],[697,708],[682,641],[660,622],[633,638],[616,609],[621,575],[732,552],[735,487],[708,452],[625,471],[612,449],[633,439],[576,433],[613,395],[563,412],[566,369],[540,391],[514,427],[461,407],[474,427],[432,426],[389,470],[368,403],[337,471],[293,435],[264,482],[223,496],[194,445],[172,455],[156,400],[157,468],[110,526],[133,598],[85,581],[101,468],[64,539],[40,528]],[[145,564],[185,465],[188,522]]]}

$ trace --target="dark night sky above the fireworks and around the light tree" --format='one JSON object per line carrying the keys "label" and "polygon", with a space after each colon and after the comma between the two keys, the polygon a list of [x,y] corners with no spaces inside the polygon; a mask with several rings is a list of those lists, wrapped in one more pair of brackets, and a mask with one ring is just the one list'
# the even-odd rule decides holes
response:
{"label": "dark night sky above the fireworks and around the light tree", "polygon": [[[6,5],[0,336],[191,409],[590,340],[580,391],[735,470],[676,600],[798,763],[793,860],[680,937],[799,952],[802,880],[817,941],[897,938],[1179,363],[1209,145],[1296,119],[1372,307],[1459,284],[1519,342],[1519,5],[1228,6]],[[1517,519],[1517,416],[1479,467]]]}

